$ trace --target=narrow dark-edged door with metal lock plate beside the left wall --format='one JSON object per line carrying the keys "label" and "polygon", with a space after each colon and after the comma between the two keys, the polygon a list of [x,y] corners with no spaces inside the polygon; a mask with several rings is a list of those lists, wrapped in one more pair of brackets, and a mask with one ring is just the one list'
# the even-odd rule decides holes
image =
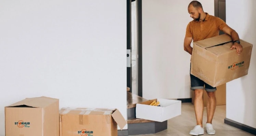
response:
{"label": "narrow dark-edged door with metal lock plate beside the left wall", "polygon": [[127,0],[127,87],[135,95],[140,84],[138,28],[138,0]]}

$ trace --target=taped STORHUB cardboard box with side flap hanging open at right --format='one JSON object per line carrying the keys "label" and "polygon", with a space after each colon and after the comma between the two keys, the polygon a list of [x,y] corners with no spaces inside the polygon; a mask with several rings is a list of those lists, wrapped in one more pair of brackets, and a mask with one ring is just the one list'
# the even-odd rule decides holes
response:
{"label": "taped STORHUB cardboard box with side flap hanging open at right", "polygon": [[117,136],[127,124],[118,109],[62,108],[60,136]]}

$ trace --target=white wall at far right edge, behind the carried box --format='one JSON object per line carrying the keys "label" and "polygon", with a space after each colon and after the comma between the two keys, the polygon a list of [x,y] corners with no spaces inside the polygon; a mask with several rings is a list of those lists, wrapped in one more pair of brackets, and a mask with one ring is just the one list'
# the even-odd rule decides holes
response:
{"label": "white wall at far right edge, behind the carried box", "polygon": [[[237,6],[239,5],[239,6]],[[248,75],[227,83],[227,118],[256,128],[256,1],[226,0],[226,21],[253,44]]]}

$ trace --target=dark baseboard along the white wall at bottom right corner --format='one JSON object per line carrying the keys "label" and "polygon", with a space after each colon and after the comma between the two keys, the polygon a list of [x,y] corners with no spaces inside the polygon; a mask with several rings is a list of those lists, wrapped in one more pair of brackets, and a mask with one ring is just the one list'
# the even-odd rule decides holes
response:
{"label": "dark baseboard along the white wall at bottom right corner", "polygon": [[247,126],[245,124],[236,122],[236,121],[228,119],[228,118],[224,119],[224,123],[228,124],[228,125],[231,125],[231,126],[233,126],[235,128],[241,129],[241,130],[243,130],[245,132],[248,132],[248,133],[251,133],[253,135],[256,135],[256,129],[252,128],[251,126]]}

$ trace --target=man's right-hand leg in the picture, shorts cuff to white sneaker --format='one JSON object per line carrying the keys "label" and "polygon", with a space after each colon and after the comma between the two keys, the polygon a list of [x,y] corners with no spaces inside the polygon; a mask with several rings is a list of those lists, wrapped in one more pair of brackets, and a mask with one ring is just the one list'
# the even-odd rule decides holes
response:
{"label": "man's right-hand leg in the picture, shorts cuff to white sneaker", "polygon": [[215,134],[215,130],[213,129],[212,121],[214,112],[216,109],[216,96],[215,91],[216,88],[212,87],[208,84],[205,84],[205,90],[208,95],[208,101],[207,101],[207,122],[206,122],[206,131],[208,134]]}

